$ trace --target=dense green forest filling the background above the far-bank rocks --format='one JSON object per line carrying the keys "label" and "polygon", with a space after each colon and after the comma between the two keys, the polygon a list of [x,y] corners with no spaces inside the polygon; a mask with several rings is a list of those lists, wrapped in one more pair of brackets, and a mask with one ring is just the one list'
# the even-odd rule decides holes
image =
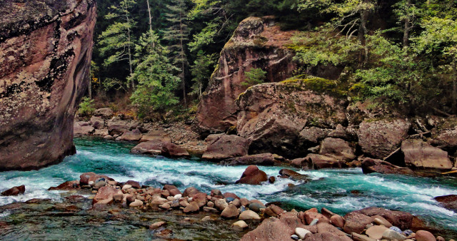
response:
{"label": "dense green forest filling the background above the far-bank rocks", "polygon": [[[195,111],[224,47],[248,16],[275,16],[296,29],[303,78],[336,66],[318,83],[349,101],[457,113],[457,1],[100,0],[89,98],[123,98],[132,116]],[[262,71],[252,80],[261,83]],[[274,81],[274,80],[265,80]],[[121,105],[120,105],[121,106]]]}

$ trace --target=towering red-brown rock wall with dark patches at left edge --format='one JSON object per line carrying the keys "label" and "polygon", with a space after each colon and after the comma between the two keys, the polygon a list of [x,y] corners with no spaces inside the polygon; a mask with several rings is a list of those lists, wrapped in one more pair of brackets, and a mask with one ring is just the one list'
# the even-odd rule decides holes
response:
{"label": "towering red-brown rock wall with dark patches at left edge", "polygon": [[86,90],[93,0],[0,2],[0,170],[41,168],[74,153]]}

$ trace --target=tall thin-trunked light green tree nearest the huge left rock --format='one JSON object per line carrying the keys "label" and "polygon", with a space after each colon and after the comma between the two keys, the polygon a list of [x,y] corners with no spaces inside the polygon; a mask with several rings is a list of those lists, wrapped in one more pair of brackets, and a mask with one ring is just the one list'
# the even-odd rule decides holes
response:
{"label": "tall thin-trunked light green tree nearest the huge left rock", "polygon": [[[119,6],[111,6],[111,13],[107,14],[105,18],[114,21],[114,23],[109,25],[99,36],[99,44],[101,46],[99,49],[100,53],[102,56],[107,57],[104,61],[104,66],[109,66],[112,63],[119,61],[128,61],[130,74],[134,72],[132,66],[132,47],[134,45],[132,40],[132,29],[135,26],[135,21],[131,11],[135,4],[136,0],[122,0],[119,3]],[[108,81],[106,85],[116,86],[121,82],[122,81],[115,79]],[[134,87],[135,83],[131,82],[131,88]]]}

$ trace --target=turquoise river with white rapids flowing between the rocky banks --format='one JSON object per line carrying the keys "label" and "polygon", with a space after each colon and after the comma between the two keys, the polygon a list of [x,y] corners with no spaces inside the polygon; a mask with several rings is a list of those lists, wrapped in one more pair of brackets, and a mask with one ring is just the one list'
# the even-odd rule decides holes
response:
{"label": "turquoise river with white rapids flowing between the rocky banks", "polygon": [[[0,173],[0,191],[16,185],[26,185],[26,193],[16,197],[0,197],[0,206],[24,202],[31,198],[61,199],[59,191],[48,191],[67,180],[77,180],[85,172],[108,175],[119,182],[137,180],[142,185],[161,187],[176,185],[181,191],[194,186],[209,193],[217,188],[263,202],[281,202],[288,209],[306,210],[327,207],[344,215],[363,207],[385,207],[418,215],[428,225],[457,233],[457,214],[433,200],[440,195],[457,194],[455,178],[414,178],[403,175],[363,175],[361,169],[298,170],[309,175],[308,183],[276,178],[276,183],[238,185],[246,166],[222,166],[199,159],[184,160],[133,155],[131,143],[119,143],[93,138],[75,139],[77,154],[59,165],[28,172]],[[259,167],[268,176],[278,175],[281,167]],[[295,185],[289,187],[289,183]],[[0,217],[8,215],[0,213]]]}

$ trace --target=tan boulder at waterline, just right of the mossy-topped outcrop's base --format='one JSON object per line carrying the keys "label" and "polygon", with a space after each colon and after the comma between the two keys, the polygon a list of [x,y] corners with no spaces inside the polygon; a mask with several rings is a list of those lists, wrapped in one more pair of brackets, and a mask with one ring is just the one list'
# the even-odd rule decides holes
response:
{"label": "tan boulder at waterline, just right of the mossy-topped outcrop's base", "polygon": [[321,142],[319,154],[330,156],[336,160],[353,160],[354,148],[351,148],[346,140],[340,138],[325,138]]}

